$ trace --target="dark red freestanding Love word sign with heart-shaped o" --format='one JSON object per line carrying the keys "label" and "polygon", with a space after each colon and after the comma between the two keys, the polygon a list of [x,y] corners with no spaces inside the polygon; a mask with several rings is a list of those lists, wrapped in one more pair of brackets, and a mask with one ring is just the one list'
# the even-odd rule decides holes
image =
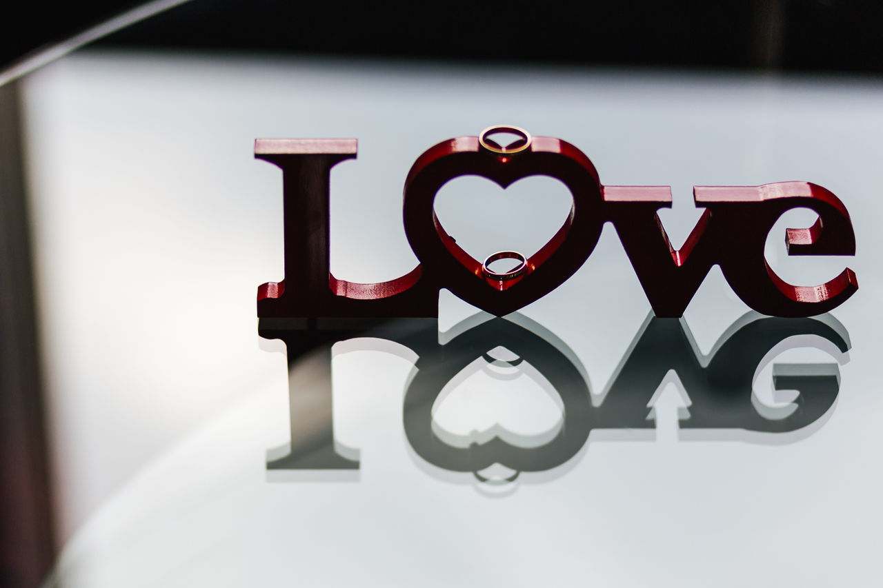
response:
{"label": "dark red freestanding Love word sign with heart-shaped o", "polygon": [[[503,132],[517,140],[502,146],[494,137]],[[283,170],[284,186],[285,280],[260,286],[262,318],[434,317],[442,288],[488,313],[512,313],[573,275],[592,253],[605,222],[613,223],[659,317],[681,316],[714,265],[746,305],[774,316],[825,313],[858,288],[849,268],[826,283],[796,286],[766,262],[767,235],[782,214],[798,207],[819,218],[807,229],[786,230],[789,254],[855,254],[846,207],[819,185],[697,186],[695,201],[705,212],[675,251],[657,214],[671,207],[668,186],[601,185],[592,162],[577,147],[532,137],[517,127],[492,127],[479,137],[442,141],[420,155],[404,183],[404,230],[419,266],[389,282],[346,282],[330,274],[328,185],[331,168],[356,156],[355,139],[258,139],[255,156]],[[570,215],[530,258],[499,252],[475,260],[434,212],[442,185],[465,175],[486,177],[503,188],[522,177],[554,177],[570,189]],[[515,268],[490,268],[508,258],[516,261]]]}

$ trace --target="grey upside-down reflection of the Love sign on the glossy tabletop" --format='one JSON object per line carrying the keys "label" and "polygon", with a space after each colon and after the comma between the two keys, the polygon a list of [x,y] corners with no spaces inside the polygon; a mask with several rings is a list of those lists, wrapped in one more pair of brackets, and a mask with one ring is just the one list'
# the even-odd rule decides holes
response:
{"label": "grey upside-down reflection of the Love sign on the glossy tabletop", "polygon": [[[261,325],[264,322],[260,320]],[[660,418],[657,393],[669,373],[676,374],[689,400],[683,404],[689,412],[679,411],[677,416],[681,429],[711,436],[728,430],[721,438],[750,440],[750,433],[790,433],[823,422],[840,392],[838,364],[773,360],[782,351],[799,347],[816,348],[837,358],[850,345],[846,329],[830,315],[786,319],[747,313],[703,355],[683,319],[648,317],[607,386],[592,396],[589,374],[567,343],[520,313],[478,324],[474,317],[466,319],[447,332],[446,337],[451,337],[447,343],[440,342],[434,319],[381,320],[370,328],[338,328],[321,334],[268,328],[261,329],[261,335],[283,340],[289,369],[295,374],[289,391],[291,443],[281,453],[274,451],[268,469],[358,470],[358,449],[345,449],[335,437],[331,349],[321,343],[381,339],[410,350],[412,355],[407,357],[416,357],[402,404],[404,434],[411,449],[428,464],[448,471],[472,471],[482,481],[479,472],[493,464],[516,472],[547,471],[565,464],[585,447],[593,430],[656,428]],[[305,342],[309,345],[311,340],[319,347],[303,354]],[[560,400],[560,420],[554,428],[532,435],[516,433],[497,420],[480,432],[473,428],[464,442],[464,436],[440,426],[435,409],[446,389],[462,384],[458,376],[468,375],[472,367],[496,363],[490,352],[501,346],[517,358],[501,360],[504,366],[529,374],[519,367],[525,363],[540,376],[535,382],[547,382],[547,387],[541,386]],[[387,351],[396,353],[389,347]],[[773,404],[765,403],[755,392],[755,381],[770,363],[774,391],[797,393],[787,403],[778,402],[781,397],[776,396]],[[301,380],[304,376],[306,380]],[[361,374],[359,385],[373,377]],[[299,386],[298,381],[308,384]],[[504,402],[509,405],[511,396]]]}

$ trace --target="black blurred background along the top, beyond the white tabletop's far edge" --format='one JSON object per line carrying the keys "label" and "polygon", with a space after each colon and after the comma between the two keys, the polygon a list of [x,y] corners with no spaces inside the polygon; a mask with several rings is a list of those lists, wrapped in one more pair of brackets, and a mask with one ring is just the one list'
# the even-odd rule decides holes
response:
{"label": "black blurred background along the top, beyond the white tabletop's far edge", "polygon": [[[0,66],[140,4],[22,4],[22,16],[0,24]],[[881,25],[883,3],[873,0],[190,0],[98,45],[879,73]]]}

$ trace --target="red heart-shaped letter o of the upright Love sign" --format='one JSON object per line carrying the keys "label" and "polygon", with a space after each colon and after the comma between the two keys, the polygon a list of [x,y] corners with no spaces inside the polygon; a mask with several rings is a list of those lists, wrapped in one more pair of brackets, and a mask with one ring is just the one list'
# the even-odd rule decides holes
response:
{"label": "red heart-shaped letter o of the upright Love sign", "polygon": [[[423,267],[424,279],[497,316],[512,313],[555,290],[583,265],[604,225],[598,172],[585,154],[561,139],[525,138],[520,147],[498,147],[481,137],[442,141],[420,155],[404,183],[404,231]],[[520,130],[518,130],[520,131]],[[480,176],[506,188],[527,176],[549,176],[570,189],[570,215],[546,245],[505,280],[487,273],[481,261],[457,245],[435,215],[435,194],[459,176]]]}

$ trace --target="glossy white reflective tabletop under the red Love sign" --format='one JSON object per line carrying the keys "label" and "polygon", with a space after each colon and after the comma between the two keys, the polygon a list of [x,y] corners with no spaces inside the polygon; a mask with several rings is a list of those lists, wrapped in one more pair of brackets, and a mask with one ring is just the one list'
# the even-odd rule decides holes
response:
{"label": "glossy white reflective tabletop under the red Love sign", "polygon": [[[876,585],[883,84],[84,53],[26,79],[58,586]],[[417,260],[411,163],[491,124],[560,137],[605,185],[804,180],[849,209],[832,313],[752,313],[719,268],[656,319],[609,225],[569,281],[502,319],[260,339],[283,268],[282,177],[253,140],[357,138],[331,177],[336,277]],[[548,177],[479,177],[436,211],[477,259],[536,251],[568,214]],[[288,287],[297,287],[288,284]],[[299,338],[298,338],[299,337]]]}

